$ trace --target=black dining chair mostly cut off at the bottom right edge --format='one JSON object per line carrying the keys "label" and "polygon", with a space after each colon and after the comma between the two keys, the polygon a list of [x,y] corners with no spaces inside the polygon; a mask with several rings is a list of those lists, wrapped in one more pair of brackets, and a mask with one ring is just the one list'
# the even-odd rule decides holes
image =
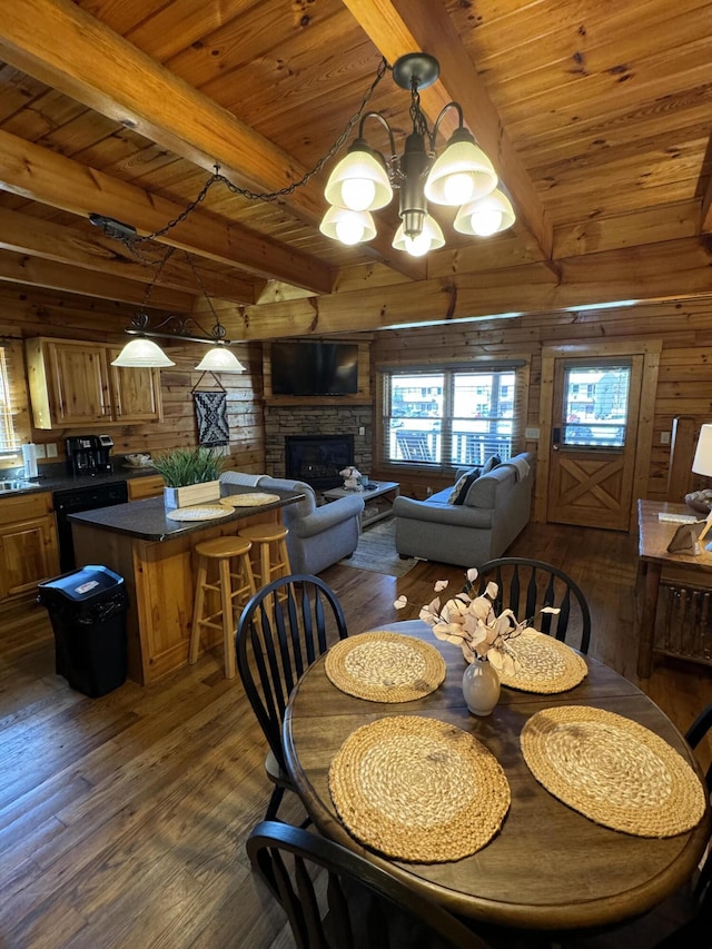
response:
{"label": "black dining chair mostly cut off at the bottom right edge", "polygon": [[[685,732],[690,748],[698,748],[712,731],[712,702]],[[705,774],[712,797],[712,763]],[[692,880],[659,903],[651,912],[587,939],[563,941],[564,949],[711,949],[712,947],[712,838]]]}

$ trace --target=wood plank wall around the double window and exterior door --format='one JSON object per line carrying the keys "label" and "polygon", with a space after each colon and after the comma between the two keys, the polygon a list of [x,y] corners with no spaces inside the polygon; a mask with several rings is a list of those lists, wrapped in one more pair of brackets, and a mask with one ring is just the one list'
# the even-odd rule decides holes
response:
{"label": "wood plank wall around the double window and exterior door", "polygon": [[[655,394],[653,443],[647,497],[665,500],[670,445],[661,436],[670,433],[678,415],[689,415],[696,426],[712,422],[712,300],[668,301],[620,306],[587,312],[545,313],[505,319],[478,319],[452,326],[398,329],[377,334],[372,347],[373,392],[378,393],[378,365],[466,360],[468,356],[524,357],[531,359],[527,425],[538,424],[542,348],[545,346],[600,346],[606,339],[662,342],[660,374]],[[536,442],[525,443],[536,453]],[[432,473],[399,476],[383,465],[376,477],[402,483],[402,493],[425,497],[426,487],[438,491],[451,478]],[[695,488],[708,486],[698,476]]]}

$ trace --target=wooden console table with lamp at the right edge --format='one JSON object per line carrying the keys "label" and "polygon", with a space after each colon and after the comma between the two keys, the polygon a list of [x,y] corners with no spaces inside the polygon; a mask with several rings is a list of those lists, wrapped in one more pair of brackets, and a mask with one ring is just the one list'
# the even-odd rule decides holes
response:
{"label": "wooden console table with lamp at the right edge", "polygon": [[[637,502],[639,562],[636,591],[641,603],[637,626],[637,674],[641,679],[649,679],[653,669],[660,581],[663,571],[665,576],[670,575],[672,583],[684,589],[688,595],[712,597],[712,553],[705,550],[705,542],[703,542],[699,554],[694,554],[692,551],[669,553],[668,545],[680,525],[671,521],[661,521],[659,518],[661,513],[675,515],[694,514],[695,512],[686,504],[657,501]],[[703,515],[698,516],[702,520]],[[712,540],[712,537],[708,535],[706,540]],[[703,606],[700,603],[700,609],[704,616],[710,612],[708,604]],[[712,626],[712,615],[709,619]],[[712,632],[708,635],[712,636]],[[706,646],[704,642],[700,643],[699,649],[690,653],[681,653],[665,648],[660,651],[680,659],[711,662],[712,654],[705,656],[705,649],[712,649],[709,642]]]}

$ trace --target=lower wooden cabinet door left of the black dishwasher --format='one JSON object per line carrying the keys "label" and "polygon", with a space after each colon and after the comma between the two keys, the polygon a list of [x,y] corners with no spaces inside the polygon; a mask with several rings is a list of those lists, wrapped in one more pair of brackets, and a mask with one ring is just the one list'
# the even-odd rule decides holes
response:
{"label": "lower wooden cabinet door left of the black dishwasher", "polygon": [[59,573],[51,516],[0,527],[0,597],[17,596]]}

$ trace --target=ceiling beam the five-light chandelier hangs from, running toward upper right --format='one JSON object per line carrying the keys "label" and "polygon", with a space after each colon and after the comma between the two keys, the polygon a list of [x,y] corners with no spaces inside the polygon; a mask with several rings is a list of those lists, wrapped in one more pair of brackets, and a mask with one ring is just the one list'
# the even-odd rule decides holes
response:
{"label": "ceiling beam the five-light chandelier hangs from, running toward upper right", "polygon": [[424,110],[432,121],[448,102],[459,102],[467,126],[516,206],[517,234],[528,235],[540,257],[550,259],[552,224],[442,0],[343,2],[389,63],[419,51],[438,60],[439,81],[421,93]]}

